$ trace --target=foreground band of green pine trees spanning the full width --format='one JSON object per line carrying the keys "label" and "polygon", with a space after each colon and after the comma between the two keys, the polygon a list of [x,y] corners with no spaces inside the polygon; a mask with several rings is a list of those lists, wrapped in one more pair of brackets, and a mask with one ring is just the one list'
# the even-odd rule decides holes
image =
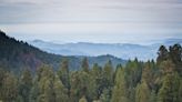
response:
{"label": "foreground band of green pine trees spanning the full width", "polygon": [[0,102],[182,102],[182,47],[161,45],[158,54],[117,68],[111,61],[89,68],[85,58],[79,71],[70,71],[67,59],[58,71],[46,64],[21,75],[0,69]]}

